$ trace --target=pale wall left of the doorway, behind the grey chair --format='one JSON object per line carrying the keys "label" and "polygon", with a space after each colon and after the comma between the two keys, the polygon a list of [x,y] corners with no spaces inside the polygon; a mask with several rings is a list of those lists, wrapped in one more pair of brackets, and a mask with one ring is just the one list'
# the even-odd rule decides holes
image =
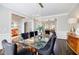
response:
{"label": "pale wall left of the doorway, behind the grey chair", "polygon": [[2,48],[1,41],[3,39],[10,40],[10,24],[11,15],[9,9],[0,5],[0,48]]}

